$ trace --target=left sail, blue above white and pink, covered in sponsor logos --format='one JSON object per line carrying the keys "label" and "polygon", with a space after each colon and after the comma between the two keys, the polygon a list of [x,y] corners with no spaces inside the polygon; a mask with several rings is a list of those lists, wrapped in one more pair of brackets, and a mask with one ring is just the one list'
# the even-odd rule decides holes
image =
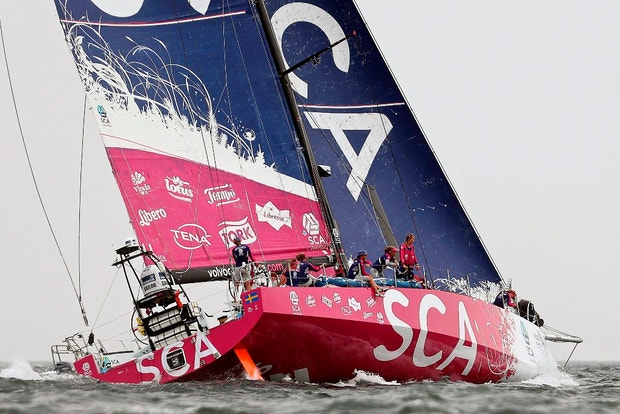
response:
{"label": "left sail, blue above white and pink, covered in sponsor logos", "polygon": [[138,239],[182,281],[226,276],[234,236],[257,260],[329,254],[247,1],[56,6]]}

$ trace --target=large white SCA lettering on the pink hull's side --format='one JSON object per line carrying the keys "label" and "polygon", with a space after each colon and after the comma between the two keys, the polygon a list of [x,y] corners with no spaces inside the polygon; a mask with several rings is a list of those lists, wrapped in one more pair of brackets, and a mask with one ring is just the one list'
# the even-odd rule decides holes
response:
{"label": "large white SCA lettering on the pink hull's side", "polygon": [[[409,299],[401,292],[397,290],[389,290],[386,292],[385,299],[383,300],[383,306],[385,308],[385,316],[396,332],[401,338],[402,342],[398,348],[393,351],[387,349],[384,345],[379,345],[374,349],[375,358],[379,361],[392,361],[402,354],[411,346],[414,340],[414,331],[405,321],[400,320],[394,314],[394,305],[398,304],[403,307],[409,306]],[[418,340],[415,344],[413,352],[413,365],[416,367],[428,367],[436,364],[443,359],[443,351],[438,351],[433,355],[426,355],[425,345],[428,334],[428,314],[431,310],[435,310],[442,315],[446,313],[446,305],[433,294],[425,295],[420,301],[420,307],[418,309],[418,315],[420,318],[420,333]],[[459,340],[450,353],[441,364],[437,366],[438,370],[444,370],[454,361],[455,358],[465,359],[467,365],[463,368],[463,375],[469,374],[474,362],[476,360],[478,341],[474,335],[471,321],[467,315],[465,305],[459,301],[458,305],[458,317],[459,317]],[[466,335],[471,340],[471,345],[466,346]]]}

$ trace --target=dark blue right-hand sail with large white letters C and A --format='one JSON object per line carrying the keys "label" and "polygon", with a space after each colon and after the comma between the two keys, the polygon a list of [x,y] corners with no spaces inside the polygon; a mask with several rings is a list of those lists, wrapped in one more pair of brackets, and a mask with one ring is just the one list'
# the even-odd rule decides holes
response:
{"label": "dark blue right-hand sail with large white letters C and A", "polygon": [[355,4],[267,0],[266,5],[288,67],[353,35],[289,74],[317,163],[331,167],[323,183],[349,256],[365,249],[378,257],[389,242],[370,186],[395,237],[417,236],[418,260],[431,278],[499,282]]}

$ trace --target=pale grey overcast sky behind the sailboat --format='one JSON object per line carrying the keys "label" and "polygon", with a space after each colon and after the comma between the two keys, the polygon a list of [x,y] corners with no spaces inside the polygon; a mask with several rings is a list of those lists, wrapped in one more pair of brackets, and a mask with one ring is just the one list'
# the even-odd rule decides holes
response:
{"label": "pale grey overcast sky behind the sailboat", "polygon": [[[584,338],[574,360],[618,360],[620,3],[357,3],[503,277]],[[74,278],[81,215],[91,325],[106,296],[131,306],[110,267],[131,230],[90,114],[78,211],[84,95],[53,1],[0,1],[0,19],[0,361],[46,361],[84,325],[21,133]]]}

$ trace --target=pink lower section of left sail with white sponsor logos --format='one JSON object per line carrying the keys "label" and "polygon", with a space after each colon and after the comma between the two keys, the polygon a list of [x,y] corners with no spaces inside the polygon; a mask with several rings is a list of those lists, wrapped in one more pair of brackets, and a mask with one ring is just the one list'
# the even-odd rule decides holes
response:
{"label": "pink lower section of left sail with white sponsor logos", "polygon": [[172,270],[210,268],[214,277],[229,276],[234,237],[261,262],[329,251],[315,200],[166,155],[118,148],[108,154],[139,241]]}

